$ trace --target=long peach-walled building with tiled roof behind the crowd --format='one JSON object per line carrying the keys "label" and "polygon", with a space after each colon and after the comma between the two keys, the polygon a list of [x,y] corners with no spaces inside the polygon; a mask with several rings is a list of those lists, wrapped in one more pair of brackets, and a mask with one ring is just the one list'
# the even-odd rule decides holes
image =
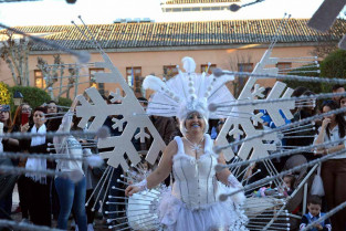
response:
{"label": "long peach-walled building with tiled roof behind the crowd", "polygon": [[[273,50],[275,57],[312,56],[315,46],[326,41],[338,41],[346,32],[346,23],[337,20],[328,33],[319,33],[306,25],[307,19],[290,19]],[[114,65],[140,95],[141,81],[146,75],[155,74],[169,78],[177,74],[184,56],[191,56],[197,64],[197,72],[214,67],[231,71],[251,72],[276,34],[282,20],[228,20],[207,22],[143,22],[88,25],[90,31],[101,48],[109,55]],[[61,46],[91,53],[91,61],[80,70],[78,93],[95,86],[102,93],[114,91],[114,84],[97,84],[90,80],[96,69],[93,63],[103,61],[87,33],[80,25],[17,27],[27,34],[41,36]],[[0,31],[2,39],[6,30]],[[48,45],[34,43],[29,55],[30,85],[45,87],[44,76],[39,70],[38,57],[49,64],[53,55],[61,53],[65,63],[75,63],[76,59]],[[279,62],[279,69],[301,66],[302,63]],[[0,63],[0,81],[13,85],[11,72],[3,60]],[[262,80],[264,86],[273,85],[275,80]],[[67,85],[67,78],[63,85]],[[57,86],[56,86],[57,87]],[[53,87],[53,91],[57,88]],[[73,91],[73,90],[72,90]],[[147,96],[147,95],[146,95]]]}

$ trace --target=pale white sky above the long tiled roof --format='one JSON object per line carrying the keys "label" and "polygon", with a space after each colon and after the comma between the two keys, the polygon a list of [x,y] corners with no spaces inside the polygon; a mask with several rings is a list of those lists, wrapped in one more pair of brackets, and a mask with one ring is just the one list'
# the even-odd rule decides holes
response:
{"label": "pale white sky above the long tiled roof", "polygon": [[[243,0],[243,3],[250,0]],[[232,19],[282,18],[285,12],[293,18],[311,18],[323,0],[265,0],[245,7],[237,13],[191,12],[165,14],[160,0],[77,0],[67,4],[65,0],[43,0],[33,2],[0,3],[0,22],[7,25],[70,24],[82,15],[88,24],[113,23],[118,18],[150,18],[160,21],[200,21]]]}

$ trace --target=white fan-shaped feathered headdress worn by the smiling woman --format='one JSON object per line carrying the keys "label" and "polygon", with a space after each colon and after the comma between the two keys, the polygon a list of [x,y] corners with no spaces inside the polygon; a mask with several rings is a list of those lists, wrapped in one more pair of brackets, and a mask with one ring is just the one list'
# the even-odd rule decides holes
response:
{"label": "white fan-shaped feathered headdress worn by the smiling woman", "polygon": [[167,117],[177,116],[180,120],[185,120],[191,112],[200,113],[206,119],[226,117],[224,112],[221,113],[218,109],[209,112],[208,106],[234,101],[233,95],[224,85],[234,77],[197,74],[196,63],[188,56],[182,59],[182,63],[186,72],[179,70],[179,74],[167,82],[153,75],[144,80],[145,90],[156,91],[149,101],[147,113]]}

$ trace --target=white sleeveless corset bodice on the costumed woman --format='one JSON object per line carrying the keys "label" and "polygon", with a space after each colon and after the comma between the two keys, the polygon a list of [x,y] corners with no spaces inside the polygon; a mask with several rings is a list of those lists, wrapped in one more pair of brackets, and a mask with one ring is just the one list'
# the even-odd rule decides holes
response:
{"label": "white sleeveless corset bodice on the costumed woman", "polygon": [[185,154],[180,137],[175,137],[178,153],[174,157],[175,183],[172,195],[190,209],[202,209],[217,201],[218,182],[214,167],[217,155],[212,151],[212,140],[205,135],[205,154],[198,160]]}

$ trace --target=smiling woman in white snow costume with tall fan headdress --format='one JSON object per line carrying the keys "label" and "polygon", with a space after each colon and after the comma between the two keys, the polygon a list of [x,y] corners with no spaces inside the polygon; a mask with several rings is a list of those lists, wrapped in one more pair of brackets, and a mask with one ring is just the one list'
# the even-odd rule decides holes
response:
{"label": "smiling woman in white snow costume with tall fan headdress", "polygon": [[[187,73],[180,73],[180,75],[187,76],[177,76],[186,77],[186,83],[182,83],[186,86],[182,88],[188,92],[186,98],[175,97],[179,92],[175,91],[174,86],[178,84],[174,81],[162,85],[158,83],[159,80],[150,76],[146,78],[147,83],[144,83],[144,85],[149,84],[150,87],[155,84],[160,85],[158,88],[153,87],[158,92],[158,95],[154,96],[151,105],[160,104],[159,101],[162,101],[162,95],[170,95],[168,98],[171,101],[166,101],[167,105],[172,105],[174,101],[179,104],[175,115],[180,120],[180,130],[184,137],[175,137],[164,151],[158,168],[141,182],[128,186],[125,193],[130,197],[136,192],[153,189],[172,171],[175,178],[172,188],[162,195],[157,207],[159,223],[164,230],[245,230],[244,225],[248,219],[240,210],[240,203],[244,199],[243,195],[238,195],[226,201],[219,200],[220,193],[239,189],[242,185],[228,169],[220,172],[216,171],[216,166],[224,164],[224,158],[222,154],[213,153],[213,141],[206,134],[208,118],[211,114],[208,111],[208,105],[210,105],[208,96],[212,94],[212,88],[216,88],[216,77],[209,76],[211,81],[209,83],[211,86],[209,87],[203,74],[192,74],[190,66],[193,66],[195,62],[192,64],[191,60],[187,62],[190,62],[188,63],[189,66],[186,66],[185,62]],[[176,81],[181,83],[181,78]],[[219,83],[221,86],[219,88],[222,90],[226,81],[229,80]],[[207,86],[201,87],[202,83]],[[159,88],[162,90],[162,94],[159,94]],[[228,92],[224,88],[223,91]],[[200,94],[203,97],[199,97]],[[221,95],[219,101],[224,99],[223,94]],[[171,106],[169,107],[171,108]],[[160,109],[164,108],[160,107]],[[148,112],[150,113],[150,106]],[[151,113],[155,113],[154,106]]]}

